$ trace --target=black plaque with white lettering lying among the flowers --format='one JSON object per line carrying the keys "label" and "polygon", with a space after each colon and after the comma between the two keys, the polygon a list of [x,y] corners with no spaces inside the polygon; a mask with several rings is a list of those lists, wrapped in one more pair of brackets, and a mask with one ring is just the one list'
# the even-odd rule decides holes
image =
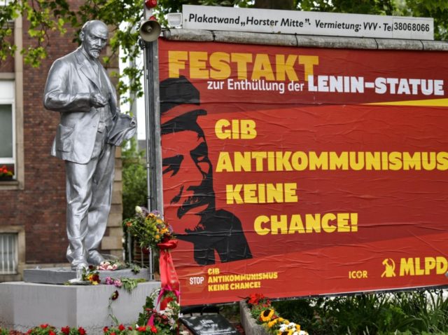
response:
{"label": "black plaque with white lettering lying among the flowers", "polygon": [[239,332],[221,314],[181,317],[181,322],[195,335],[238,335]]}

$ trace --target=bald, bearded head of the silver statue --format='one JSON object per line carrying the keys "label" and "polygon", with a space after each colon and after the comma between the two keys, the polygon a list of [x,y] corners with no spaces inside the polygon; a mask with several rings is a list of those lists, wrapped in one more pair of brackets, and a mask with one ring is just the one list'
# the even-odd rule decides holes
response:
{"label": "bald, bearded head of the silver statue", "polygon": [[104,22],[91,20],[85,22],[79,38],[82,42],[82,48],[92,59],[97,59],[107,43],[109,29]]}

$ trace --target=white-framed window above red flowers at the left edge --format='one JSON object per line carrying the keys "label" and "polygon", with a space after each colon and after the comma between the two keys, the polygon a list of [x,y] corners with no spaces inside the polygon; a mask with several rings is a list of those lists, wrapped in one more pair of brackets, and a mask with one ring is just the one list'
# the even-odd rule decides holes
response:
{"label": "white-framed window above red flowers at the left edge", "polygon": [[[0,167],[16,175],[14,81],[0,81]],[[1,179],[0,179],[1,182]]]}

